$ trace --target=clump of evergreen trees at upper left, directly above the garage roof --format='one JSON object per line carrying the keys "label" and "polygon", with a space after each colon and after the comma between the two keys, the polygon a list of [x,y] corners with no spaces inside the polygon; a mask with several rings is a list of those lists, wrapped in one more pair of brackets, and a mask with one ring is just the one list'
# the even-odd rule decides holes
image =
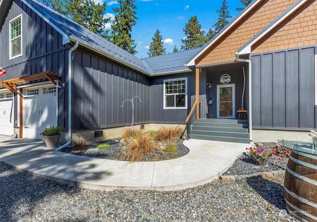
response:
{"label": "clump of evergreen trees at upper left, directly above the garage roof", "polygon": [[104,18],[106,3],[96,4],[94,0],[40,0],[44,4],[52,7],[59,13],[90,31],[106,38],[108,30],[105,25],[110,18]]}

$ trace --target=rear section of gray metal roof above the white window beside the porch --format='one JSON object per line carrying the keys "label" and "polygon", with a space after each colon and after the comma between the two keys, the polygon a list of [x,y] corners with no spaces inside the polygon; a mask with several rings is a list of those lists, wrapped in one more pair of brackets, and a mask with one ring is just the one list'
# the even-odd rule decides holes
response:
{"label": "rear section of gray metal roof above the white window beside the porch", "polygon": [[163,72],[190,71],[186,64],[203,48],[185,50],[177,53],[164,54],[142,59],[152,68],[154,74]]}

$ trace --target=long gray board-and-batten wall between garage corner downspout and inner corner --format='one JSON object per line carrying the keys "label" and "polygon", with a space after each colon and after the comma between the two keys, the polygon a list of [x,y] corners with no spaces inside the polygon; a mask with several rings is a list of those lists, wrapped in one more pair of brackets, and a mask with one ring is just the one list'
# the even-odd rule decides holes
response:
{"label": "long gray board-and-batten wall between garage corner downspout and inner corner", "polygon": [[74,51],[72,129],[128,125],[150,121],[149,77],[80,49]]}

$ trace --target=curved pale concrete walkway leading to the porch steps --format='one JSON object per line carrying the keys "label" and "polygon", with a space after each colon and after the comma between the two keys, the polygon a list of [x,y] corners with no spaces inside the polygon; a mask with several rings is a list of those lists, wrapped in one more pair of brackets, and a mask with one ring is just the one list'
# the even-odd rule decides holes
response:
{"label": "curved pale concrete walkway leading to the porch steps", "polygon": [[0,161],[55,181],[93,189],[176,190],[217,179],[250,144],[185,140],[190,152],[158,162],[112,161],[54,151],[44,141],[0,135]]}

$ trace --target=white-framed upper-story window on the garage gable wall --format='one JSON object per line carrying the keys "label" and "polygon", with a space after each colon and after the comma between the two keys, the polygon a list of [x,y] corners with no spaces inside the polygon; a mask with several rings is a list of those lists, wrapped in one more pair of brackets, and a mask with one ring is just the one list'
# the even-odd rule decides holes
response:
{"label": "white-framed upper-story window on the garage gable wall", "polygon": [[22,55],[22,16],[10,21],[10,59]]}

